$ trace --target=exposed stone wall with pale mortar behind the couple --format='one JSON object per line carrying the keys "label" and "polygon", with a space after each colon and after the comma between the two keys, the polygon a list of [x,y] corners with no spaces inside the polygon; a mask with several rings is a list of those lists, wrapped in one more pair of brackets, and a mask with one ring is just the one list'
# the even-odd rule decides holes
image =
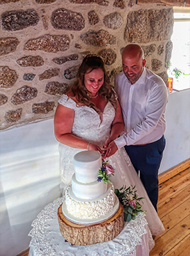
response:
{"label": "exposed stone wall with pale mortar behind the couple", "polygon": [[113,85],[128,43],[167,82],[173,9],[134,0],[0,0],[0,129],[53,117],[88,53]]}

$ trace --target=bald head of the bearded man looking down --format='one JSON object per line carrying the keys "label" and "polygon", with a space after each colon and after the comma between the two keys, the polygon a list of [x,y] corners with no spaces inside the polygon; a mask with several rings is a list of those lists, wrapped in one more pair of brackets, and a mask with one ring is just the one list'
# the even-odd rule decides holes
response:
{"label": "bald head of the bearded man looking down", "polygon": [[122,53],[122,64],[125,76],[133,85],[140,78],[146,64],[143,49],[137,44],[125,46]]}

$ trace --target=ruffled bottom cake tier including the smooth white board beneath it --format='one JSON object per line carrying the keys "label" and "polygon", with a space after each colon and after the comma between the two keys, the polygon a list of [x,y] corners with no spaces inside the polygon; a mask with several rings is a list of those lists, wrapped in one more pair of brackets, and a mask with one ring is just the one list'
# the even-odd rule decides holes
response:
{"label": "ruffled bottom cake tier including the smooth white board beneath it", "polygon": [[112,183],[108,184],[106,193],[88,201],[74,196],[72,186],[68,186],[65,192],[65,202],[62,205],[62,213],[74,223],[90,225],[111,218],[118,210],[118,206],[119,201],[114,193]]}

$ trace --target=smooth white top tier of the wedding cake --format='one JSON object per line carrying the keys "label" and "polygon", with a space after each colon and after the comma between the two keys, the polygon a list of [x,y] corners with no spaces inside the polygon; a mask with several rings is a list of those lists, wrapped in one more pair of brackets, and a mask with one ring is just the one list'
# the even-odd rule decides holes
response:
{"label": "smooth white top tier of the wedding cake", "polygon": [[101,154],[98,151],[82,151],[75,154],[74,171],[77,181],[82,183],[96,181],[101,165]]}

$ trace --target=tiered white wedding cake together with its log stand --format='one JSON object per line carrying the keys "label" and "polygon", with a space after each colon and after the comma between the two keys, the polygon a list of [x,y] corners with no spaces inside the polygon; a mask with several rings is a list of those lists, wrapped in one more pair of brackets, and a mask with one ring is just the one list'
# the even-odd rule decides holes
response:
{"label": "tiered white wedding cake together with its log stand", "polygon": [[[101,154],[98,151],[81,151],[74,156],[72,184],[67,187],[65,201],[58,209],[60,231],[74,245],[105,242],[115,238],[123,229],[123,208],[114,193],[113,184],[105,183],[103,179],[97,180],[101,167]],[[105,229],[107,225],[109,230]],[[84,230],[88,230],[87,237]],[[77,232],[77,236],[73,232]],[[106,235],[101,232],[106,232]]]}

